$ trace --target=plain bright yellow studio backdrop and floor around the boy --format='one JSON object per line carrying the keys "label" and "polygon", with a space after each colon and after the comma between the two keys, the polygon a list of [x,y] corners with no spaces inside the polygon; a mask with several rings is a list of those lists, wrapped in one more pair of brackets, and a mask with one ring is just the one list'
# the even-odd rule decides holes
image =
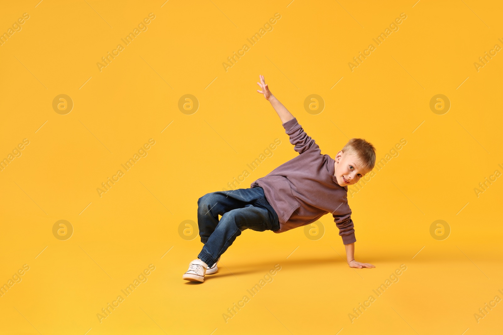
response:
{"label": "plain bright yellow studio backdrop and floor around the boy", "polygon": [[[502,10],[473,0],[2,4],[0,32],[23,13],[30,19],[0,46],[0,158],[30,144],[0,172],[0,283],[30,269],[0,297],[0,332],[500,333],[503,302],[478,323],[474,313],[503,298],[503,181],[478,197],[474,188],[503,172],[503,55],[478,72],[473,63],[503,46]],[[96,63],[149,13],[147,31],[100,72]],[[246,38],[275,13],[281,19],[251,46]],[[400,13],[399,30],[352,72],[348,62]],[[243,44],[249,50],[225,71]],[[179,235],[182,221],[197,221],[198,198],[227,187],[276,138],[274,155],[240,188],[297,155],[256,91],[259,74],[323,154],[361,137],[380,160],[407,141],[349,197],[356,259],[375,269],[348,267],[326,215],[316,241],[304,228],[244,231],[217,274],[182,280],[202,248]],[[58,94],[72,99],[69,114],[52,108]],[[199,101],[192,115],[178,108],[185,94]],[[323,98],[321,113],[304,109],[309,94]],[[430,109],[436,94],[451,101],[448,113]],[[101,183],[150,138],[148,155],[100,197]],[[66,241],[52,234],[61,219],[73,227]],[[443,241],[430,235],[438,219],[451,228]],[[96,314],[149,264],[148,280],[100,323]],[[225,322],[276,264],[274,280]],[[348,314],[401,264],[399,281],[352,323]]]}

